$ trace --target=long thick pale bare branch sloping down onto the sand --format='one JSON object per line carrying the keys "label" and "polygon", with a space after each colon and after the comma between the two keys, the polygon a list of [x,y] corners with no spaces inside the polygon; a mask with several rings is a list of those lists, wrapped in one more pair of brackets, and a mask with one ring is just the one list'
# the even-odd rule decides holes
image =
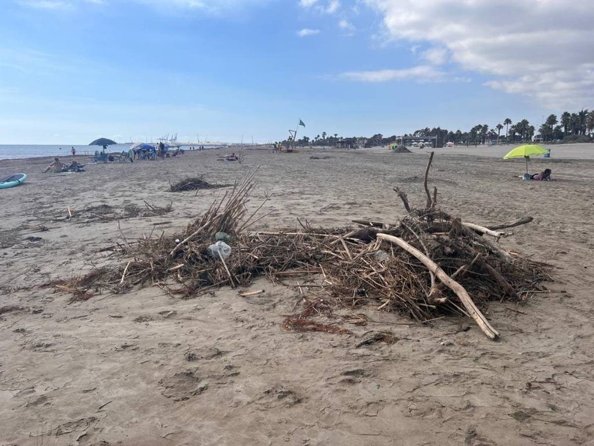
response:
{"label": "long thick pale bare branch sloping down onto the sand", "polygon": [[377,237],[400,246],[406,252],[419,259],[423,265],[429,269],[429,271],[432,271],[437,276],[437,278],[445,284],[445,286],[456,293],[456,296],[458,296],[460,301],[462,301],[466,311],[469,313],[472,319],[475,320],[476,324],[479,326],[479,328],[481,328],[486,337],[489,339],[495,339],[499,337],[497,330],[495,330],[485,319],[485,316],[483,316],[481,311],[476,307],[465,288],[453,280],[450,276],[445,274],[445,271],[441,269],[436,263],[434,263],[433,260],[429,259],[429,257],[425,256],[415,247],[410,246],[408,243],[406,243],[406,241],[402,240],[402,238],[394,237],[393,235],[388,234],[377,234]]}

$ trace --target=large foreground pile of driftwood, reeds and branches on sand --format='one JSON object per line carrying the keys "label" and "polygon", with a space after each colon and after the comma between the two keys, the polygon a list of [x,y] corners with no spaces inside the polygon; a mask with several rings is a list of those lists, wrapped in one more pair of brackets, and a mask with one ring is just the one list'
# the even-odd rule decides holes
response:
{"label": "large foreground pile of driftwood, reeds and branches on sand", "polygon": [[[100,288],[119,293],[148,284],[194,296],[223,285],[249,285],[263,275],[273,281],[299,278],[299,291],[317,290],[324,299],[304,297],[304,311],[287,318],[287,328],[343,332],[310,316],[329,314],[337,307],[377,304],[419,322],[462,313],[489,338],[496,338],[498,332],[481,313],[482,304],[520,299],[548,278],[545,265],[505,252],[497,244],[507,235],[502,230],[532,218],[483,227],[440,211],[437,189],[431,194],[427,186],[432,157],[425,172],[424,207],[412,208],[406,193],[395,189],[406,209],[400,221],[356,221],[359,228],[354,229],[302,225],[300,230],[250,232],[263,218],[256,215],[264,205],[254,212],[246,206],[255,187],[254,172],[182,234],[127,241],[119,252],[128,260],[59,282],[59,289],[88,299]],[[208,249],[220,232],[230,237],[232,250],[226,258]]]}

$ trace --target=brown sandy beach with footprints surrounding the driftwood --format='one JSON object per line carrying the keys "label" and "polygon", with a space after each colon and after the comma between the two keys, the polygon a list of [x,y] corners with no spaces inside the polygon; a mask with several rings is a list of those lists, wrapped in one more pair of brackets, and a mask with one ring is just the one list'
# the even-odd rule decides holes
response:
{"label": "brown sandy beach with footprints surrounding the driftwood", "polygon": [[[504,161],[506,149],[438,149],[429,175],[440,206],[466,221],[534,218],[501,246],[550,263],[554,282],[486,307],[498,341],[467,318],[409,325],[377,306],[355,310],[373,322],[350,335],[290,332],[282,315],[299,291],[266,279],[242,290],[263,294],[225,287],[185,300],[149,287],[69,303],[33,286],[116,262],[105,249],[124,243],[118,222],[56,216],[171,203],[119,220],[128,240],[169,236],[228,190],[171,193],[169,183],[229,184],[259,167],[249,206],[272,195],[257,229],[396,221],[393,187],[425,200],[427,149],[244,150],[242,164],[206,150],[55,175],[40,173],[49,158],[3,161],[1,176],[29,178],[0,190],[0,445],[594,444],[594,145],[532,159],[552,182],[520,180],[524,161]],[[398,341],[355,348],[371,330]]]}

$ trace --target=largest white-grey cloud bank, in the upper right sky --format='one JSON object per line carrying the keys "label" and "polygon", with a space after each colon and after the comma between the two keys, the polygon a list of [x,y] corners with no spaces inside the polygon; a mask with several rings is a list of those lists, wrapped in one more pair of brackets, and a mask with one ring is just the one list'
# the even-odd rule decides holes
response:
{"label": "largest white-grey cloud bank, in the upper right sky", "polygon": [[[391,39],[431,43],[486,84],[546,106],[594,102],[594,7],[590,0],[363,0]],[[431,63],[444,60],[437,49]]]}

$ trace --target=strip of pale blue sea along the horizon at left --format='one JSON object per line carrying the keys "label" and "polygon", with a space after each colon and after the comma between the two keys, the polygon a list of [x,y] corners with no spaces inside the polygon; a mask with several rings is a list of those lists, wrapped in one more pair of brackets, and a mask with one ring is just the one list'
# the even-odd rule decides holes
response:
{"label": "strip of pale blue sea along the horizon at left", "polygon": [[[115,144],[109,146],[109,152],[117,153],[122,150],[127,151],[131,146],[127,144]],[[0,160],[2,159],[20,159],[36,158],[37,156],[70,156],[72,147],[77,155],[94,155],[95,150],[101,150],[101,146],[81,146],[81,145],[0,145]],[[204,145],[204,149],[213,149],[214,145]],[[189,149],[182,146],[182,149]]]}

